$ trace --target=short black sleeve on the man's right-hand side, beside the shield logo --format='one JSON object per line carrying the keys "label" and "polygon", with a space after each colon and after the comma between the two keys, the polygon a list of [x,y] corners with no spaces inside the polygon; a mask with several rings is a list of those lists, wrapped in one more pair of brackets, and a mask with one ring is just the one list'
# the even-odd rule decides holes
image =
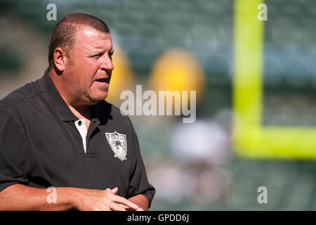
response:
{"label": "short black sleeve on the man's right-hand side, beside the shield logo", "polygon": [[135,148],[136,158],[132,167],[133,171],[131,173],[131,178],[129,182],[128,198],[131,198],[134,195],[143,194],[148,199],[151,205],[156,190],[154,186],[152,186],[148,182],[145,165],[140,155],[138,138],[133,128],[133,124],[131,123],[131,120],[129,120],[129,123],[131,126],[131,136],[133,141],[133,148]]}

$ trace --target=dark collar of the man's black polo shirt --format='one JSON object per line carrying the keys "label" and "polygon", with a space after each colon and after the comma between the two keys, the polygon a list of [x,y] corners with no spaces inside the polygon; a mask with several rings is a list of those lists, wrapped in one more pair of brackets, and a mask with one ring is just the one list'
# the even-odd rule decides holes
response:
{"label": "dark collar of the man's black polo shirt", "polygon": [[[55,87],[55,84],[53,84],[51,77],[49,77],[48,75],[48,69],[45,70],[44,76],[39,79],[39,84],[41,86],[41,89],[44,91],[44,93],[48,97],[48,99],[51,101],[53,108],[55,108],[56,113],[58,113],[59,117],[62,120],[64,121],[79,120],[79,118],[76,117],[74,113],[72,113],[72,110],[70,110],[70,108],[65,103],[62,96],[60,96],[58,90]],[[110,112],[111,112],[110,104],[107,103],[106,101],[100,101],[100,103],[93,105],[92,110],[93,110],[93,113],[92,113],[93,118],[96,118],[100,122],[107,122],[109,118],[112,119],[110,115]]]}

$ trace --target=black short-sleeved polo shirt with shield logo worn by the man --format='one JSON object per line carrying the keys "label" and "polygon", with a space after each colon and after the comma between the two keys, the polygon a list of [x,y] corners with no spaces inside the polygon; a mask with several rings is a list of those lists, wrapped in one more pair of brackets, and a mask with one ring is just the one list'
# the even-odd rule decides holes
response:
{"label": "black short-sleeved polo shirt with shield logo worn by the man", "polygon": [[[2,99],[0,191],[12,184],[100,190],[118,187],[117,194],[124,198],[143,194],[151,203],[155,190],[147,181],[129,117],[106,101],[93,105],[86,152],[74,124],[77,120],[47,70],[41,79]],[[124,146],[121,157],[115,144]]]}

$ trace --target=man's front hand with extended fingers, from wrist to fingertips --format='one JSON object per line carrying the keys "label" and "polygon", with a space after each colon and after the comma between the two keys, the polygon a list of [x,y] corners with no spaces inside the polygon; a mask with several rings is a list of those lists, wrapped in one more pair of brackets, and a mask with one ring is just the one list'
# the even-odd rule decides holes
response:
{"label": "man's front hand with extended fingers, from wrist to fingertips", "polygon": [[138,205],[126,198],[115,195],[118,188],[107,188],[105,191],[79,189],[78,196],[74,199],[74,207],[84,211],[126,211],[141,210]]}

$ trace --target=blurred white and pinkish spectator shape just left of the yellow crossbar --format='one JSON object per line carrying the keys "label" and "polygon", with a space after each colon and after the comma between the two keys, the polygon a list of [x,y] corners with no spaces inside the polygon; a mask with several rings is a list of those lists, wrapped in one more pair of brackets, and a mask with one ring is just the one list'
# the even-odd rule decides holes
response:
{"label": "blurred white and pinkish spectator shape just left of the yellow crossbar", "polygon": [[176,158],[185,162],[196,204],[216,202],[225,197],[230,179],[218,167],[228,160],[230,139],[215,120],[197,120],[178,124],[173,131],[171,147]]}

